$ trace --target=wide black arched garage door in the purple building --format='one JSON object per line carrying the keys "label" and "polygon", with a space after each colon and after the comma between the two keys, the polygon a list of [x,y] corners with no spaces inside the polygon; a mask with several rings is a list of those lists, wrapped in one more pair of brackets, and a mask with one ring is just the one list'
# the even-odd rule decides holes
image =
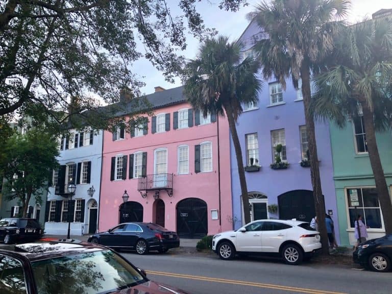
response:
{"label": "wide black arched garage door in the purple building", "polygon": [[310,222],[315,216],[313,191],[293,190],[278,196],[279,218]]}

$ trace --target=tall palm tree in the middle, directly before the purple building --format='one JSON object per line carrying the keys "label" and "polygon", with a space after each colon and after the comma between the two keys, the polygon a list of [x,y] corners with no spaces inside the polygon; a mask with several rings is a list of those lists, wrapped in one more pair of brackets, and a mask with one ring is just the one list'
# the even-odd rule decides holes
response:
{"label": "tall palm tree in the middle, directly before the purple building", "polygon": [[346,16],[349,7],[348,0],[273,0],[270,4],[263,2],[257,5],[255,11],[249,14],[266,36],[254,45],[264,78],[275,76],[283,88],[287,78],[292,79],[295,88],[302,80],[310,175],[324,254],[329,253],[329,247],[314,120],[309,111],[310,78],[311,73],[317,73],[320,61],[332,51],[334,37],[342,26],[336,20]]}

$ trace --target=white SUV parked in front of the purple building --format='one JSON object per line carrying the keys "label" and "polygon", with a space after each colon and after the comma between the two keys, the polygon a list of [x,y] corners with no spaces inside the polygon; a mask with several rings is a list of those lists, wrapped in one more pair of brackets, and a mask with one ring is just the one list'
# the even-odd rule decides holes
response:
{"label": "white SUV parked in front of the purple building", "polygon": [[288,264],[300,264],[321,249],[320,233],[298,220],[260,219],[236,231],[216,234],[212,250],[221,259],[239,255],[279,256]]}

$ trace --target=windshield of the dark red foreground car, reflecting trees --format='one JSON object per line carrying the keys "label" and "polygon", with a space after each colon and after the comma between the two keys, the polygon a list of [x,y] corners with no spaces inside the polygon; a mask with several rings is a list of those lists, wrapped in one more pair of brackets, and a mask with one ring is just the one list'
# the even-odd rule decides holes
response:
{"label": "windshield of the dark red foreground car, reflecting trees", "polygon": [[32,262],[38,293],[110,293],[147,280],[112,251],[95,251]]}

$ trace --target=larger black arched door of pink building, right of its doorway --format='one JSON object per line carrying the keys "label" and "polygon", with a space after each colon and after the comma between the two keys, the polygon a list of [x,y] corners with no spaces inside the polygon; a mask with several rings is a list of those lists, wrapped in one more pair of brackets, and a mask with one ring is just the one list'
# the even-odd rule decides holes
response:
{"label": "larger black arched door of pink building, right of its doorway", "polygon": [[207,235],[207,203],[198,198],[187,198],[177,204],[177,234],[183,238]]}

